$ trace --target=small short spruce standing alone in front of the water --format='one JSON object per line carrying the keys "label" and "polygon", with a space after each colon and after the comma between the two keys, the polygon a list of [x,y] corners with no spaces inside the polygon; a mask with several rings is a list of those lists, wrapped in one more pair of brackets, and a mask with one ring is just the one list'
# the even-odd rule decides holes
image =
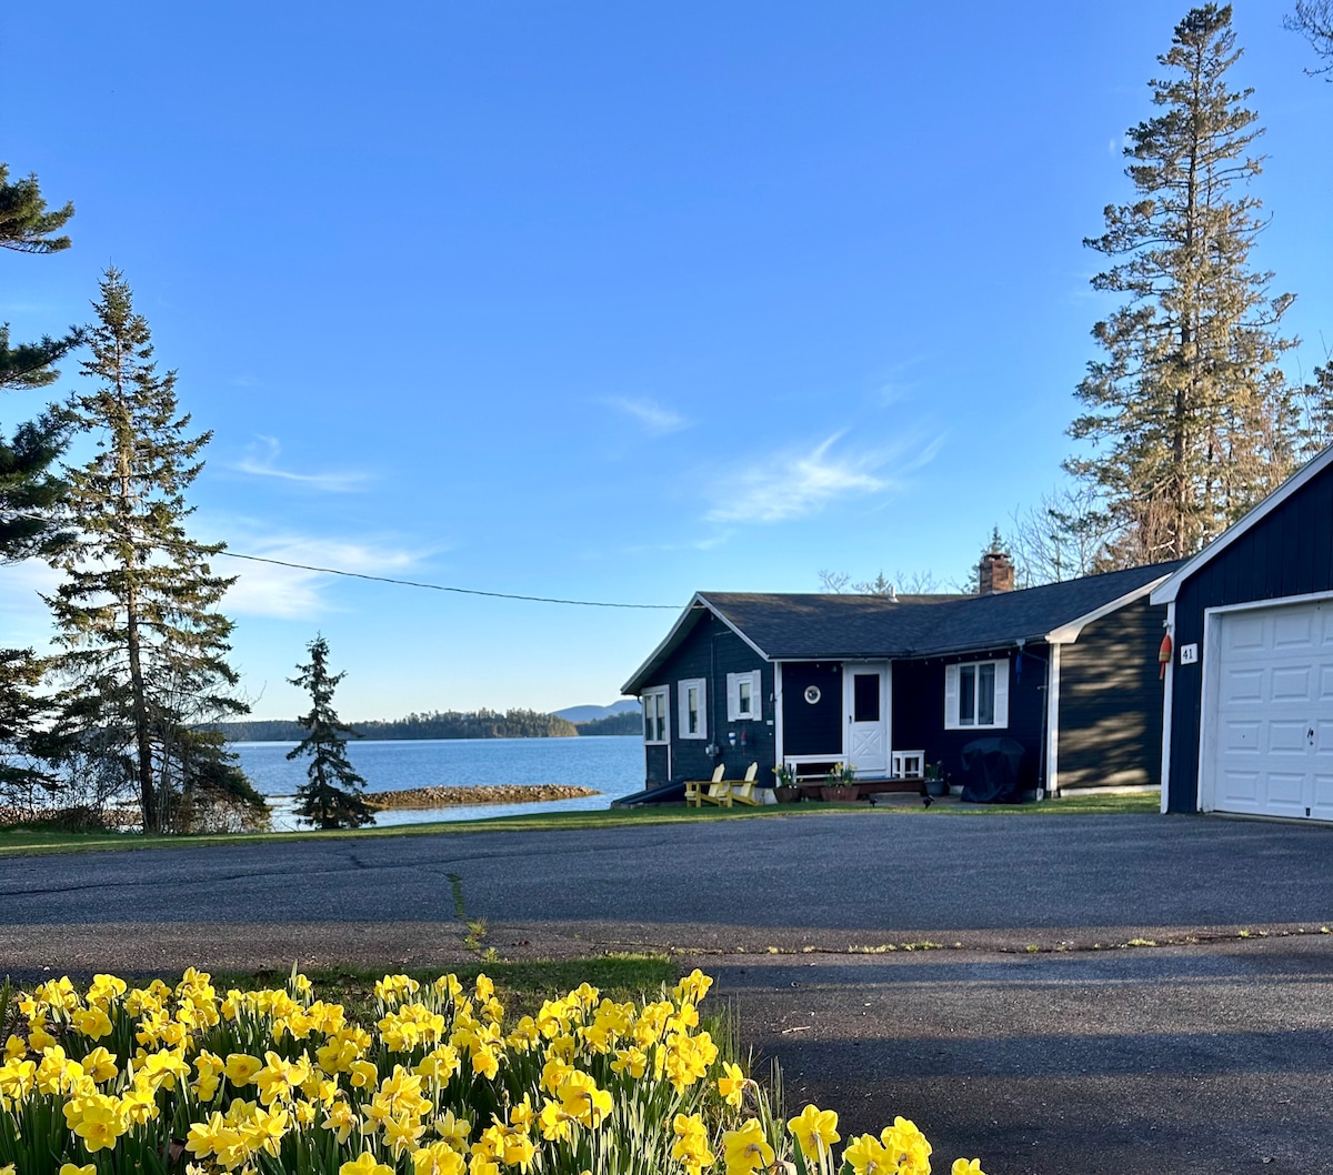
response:
{"label": "small short spruce standing alone in front of the water", "polygon": [[316,634],[305,647],[309,663],[296,666],[300,673],[288,678],[311,694],[311,713],[296,719],[307,735],[287,754],[289,759],[311,757],[308,782],[296,790],[296,814],[317,829],[359,829],[373,823],[375,814],[363,799],[365,779],[347,758],[347,735],[360,735],[333,709],[333,690],[347,674],[329,673],[329,645],[323,635]]}

